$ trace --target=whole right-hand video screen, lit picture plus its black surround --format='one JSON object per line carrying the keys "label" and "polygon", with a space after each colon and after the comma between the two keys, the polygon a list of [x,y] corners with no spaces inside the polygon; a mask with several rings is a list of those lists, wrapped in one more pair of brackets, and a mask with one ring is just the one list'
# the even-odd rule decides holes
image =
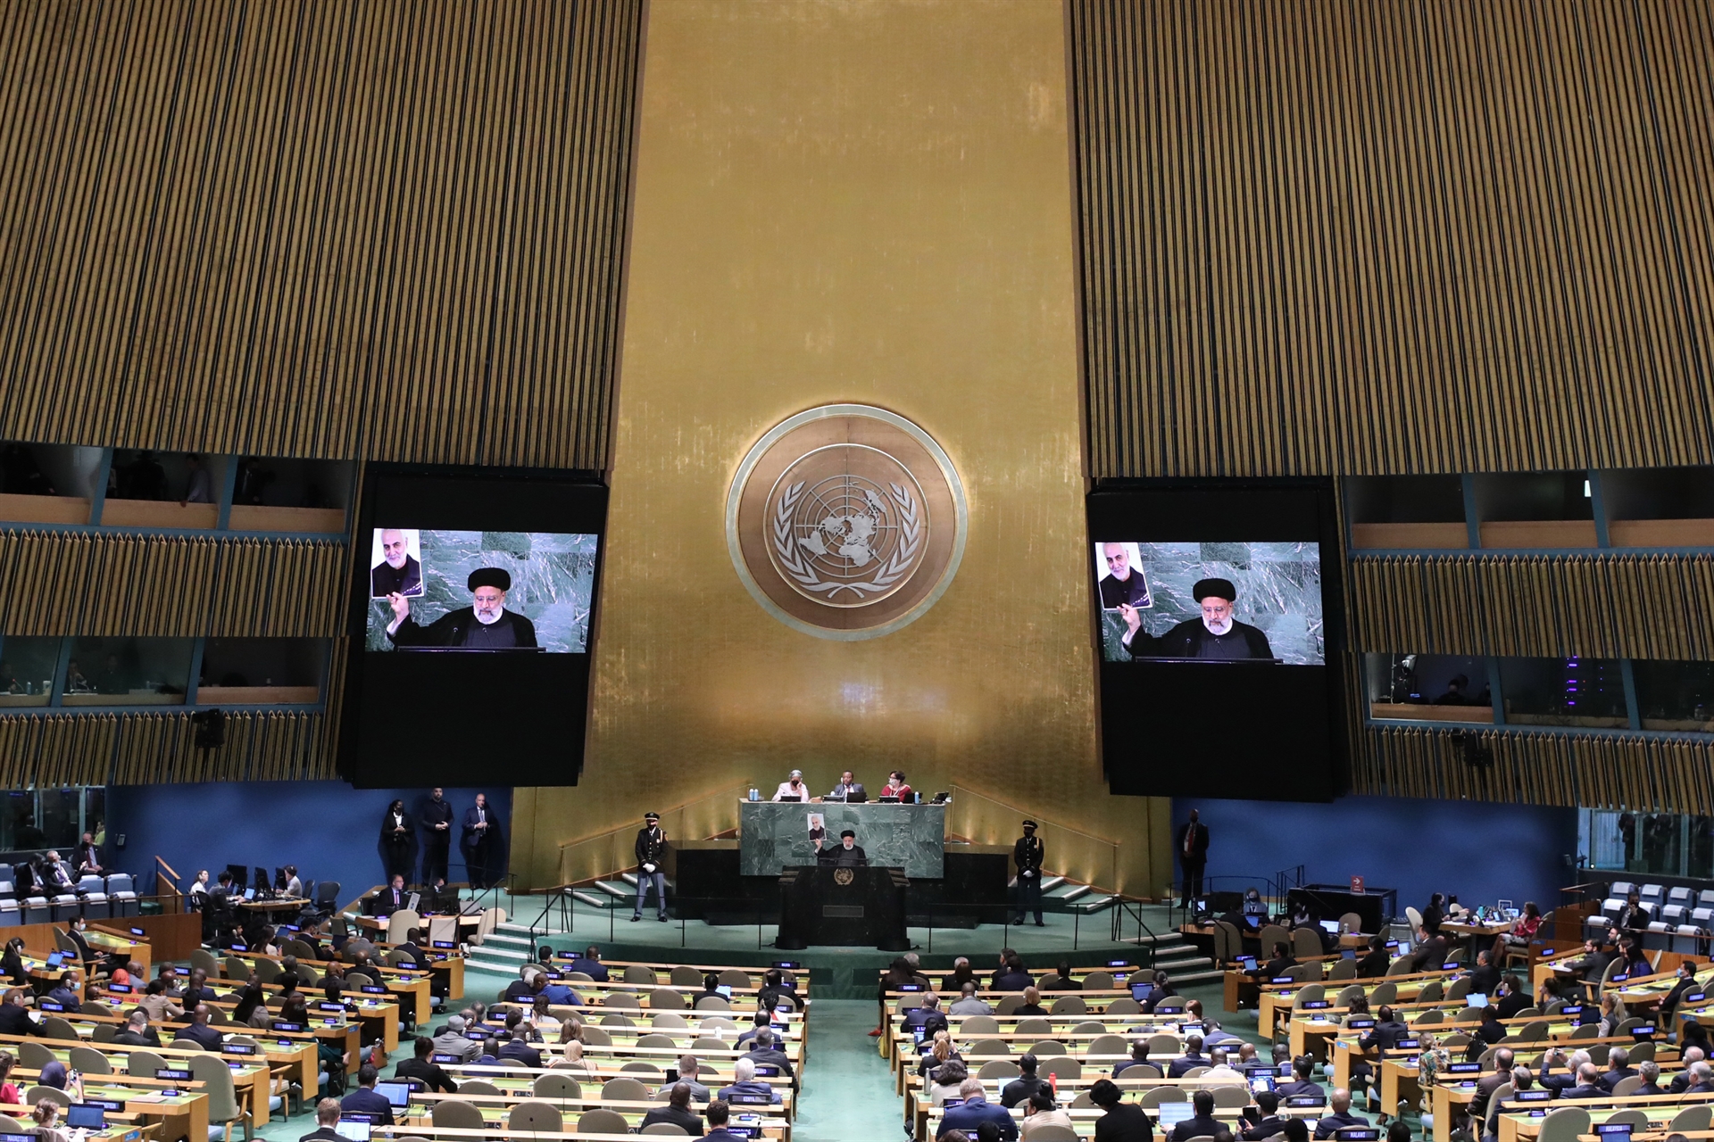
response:
{"label": "whole right-hand video screen, lit picture plus its black surround", "polygon": [[1088,527],[1112,791],[1332,798],[1332,483],[1107,485],[1088,497]]}

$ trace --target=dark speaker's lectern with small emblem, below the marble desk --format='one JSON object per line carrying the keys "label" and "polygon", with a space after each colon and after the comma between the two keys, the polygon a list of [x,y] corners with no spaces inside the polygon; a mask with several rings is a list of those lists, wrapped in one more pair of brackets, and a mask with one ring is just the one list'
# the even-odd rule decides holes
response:
{"label": "dark speaker's lectern with small emblem, below the marble desk", "polygon": [[776,949],[800,950],[816,943],[874,947],[905,952],[903,868],[812,865],[787,868],[780,877],[780,935]]}

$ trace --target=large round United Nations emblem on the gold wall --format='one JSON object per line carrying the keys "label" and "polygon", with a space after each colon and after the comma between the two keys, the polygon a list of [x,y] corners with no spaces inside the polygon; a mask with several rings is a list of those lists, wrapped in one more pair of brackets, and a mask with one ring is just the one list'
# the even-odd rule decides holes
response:
{"label": "large round United Nations emblem on the gold wall", "polygon": [[727,546],[775,618],[872,639],[920,616],[963,555],[963,485],[946,452],[884,409],[799,413],[749,450],[727,498]]}

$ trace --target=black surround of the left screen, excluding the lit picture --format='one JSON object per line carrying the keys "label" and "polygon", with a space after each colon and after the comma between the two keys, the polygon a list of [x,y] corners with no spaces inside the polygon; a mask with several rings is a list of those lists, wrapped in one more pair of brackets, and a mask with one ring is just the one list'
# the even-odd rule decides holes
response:
{"label": "black surround of the left screen, excluding the lit picture", "polygon": [[[339,719],[339,776],[357,789],[468,784],[574,786],[588,743],[595,642],[607,558],[608,488],[600,473],[370,462],[353,536]],[[422,520],[422,522],[418,522]],[[369,551],[377,526],[595,534],[595,589],[583,654],[370,654]],[[482,717],[471,687],[488,695]],[[406,695],[406,697],[401,697]],[[386,702],[386,705],[382,705]],[[382,735],[415,726],[403,738]],[[495,735],[494,728],[500,726]],[[430,729],[432,728],[432,729]]]}

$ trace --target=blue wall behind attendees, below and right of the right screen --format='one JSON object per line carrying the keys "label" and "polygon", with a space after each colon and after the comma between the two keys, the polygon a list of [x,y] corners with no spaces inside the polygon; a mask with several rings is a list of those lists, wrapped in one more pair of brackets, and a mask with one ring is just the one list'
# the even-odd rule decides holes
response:
{"label": "blue wall behind attendees, below and right of the right screen", "polygon": [[[1345,885],[1364,877],[1397,889],[1399,911],[1423,907],[1431,892],[1464,904],[1536,901],[1560,904],[1577,883],[1561,854],[1577,851],[1577,810],[1493,801],[1339,798],[1332,805],[1174,798],[1172,829],[1196,808],[1208,825],[1208,885],[1243,889],[1304,865],[1309,883]],[[1179,877],[1174,866],[1174,880]]]}

